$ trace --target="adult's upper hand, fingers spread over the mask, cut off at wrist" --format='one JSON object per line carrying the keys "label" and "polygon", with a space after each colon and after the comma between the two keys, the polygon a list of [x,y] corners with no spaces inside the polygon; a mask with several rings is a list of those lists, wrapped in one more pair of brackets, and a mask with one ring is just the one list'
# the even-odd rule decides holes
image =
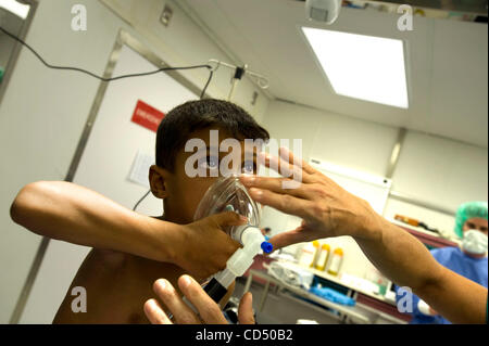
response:
{"label": "adult's upper hand, fingers spread over the mask, cut off at wrist", "polygon": [[274,248],[327,236],[365,236],[368,226],[378,222],[377,214],[367,202],[298,161],[288,150],[280,149],[280,157],[265,154],[262,159],[266,167],[301,179],[292,183],[292,178],[240,178],[256,202],[303,220],[297,229],[275,235],[271,240]]}

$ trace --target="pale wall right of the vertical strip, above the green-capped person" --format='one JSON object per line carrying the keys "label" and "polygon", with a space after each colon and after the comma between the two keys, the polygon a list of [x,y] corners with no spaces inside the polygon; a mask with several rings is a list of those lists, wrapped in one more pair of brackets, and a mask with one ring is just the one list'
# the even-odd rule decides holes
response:
{"label": "pale wall right of the vertical strip, above the green-capped person", "polygon": [[[393,174],[396,192],[455,212],[469,201],[488,201],[488,150],[409,132]],[[385,216],[409,213],[454,236],[454,217],[390,198]]]}

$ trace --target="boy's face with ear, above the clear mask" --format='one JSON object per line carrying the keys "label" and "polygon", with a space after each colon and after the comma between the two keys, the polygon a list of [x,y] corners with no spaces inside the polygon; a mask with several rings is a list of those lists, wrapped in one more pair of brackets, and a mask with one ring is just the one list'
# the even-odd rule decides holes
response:
{"label": "boy's face with ear, above the clear mask", "polygon": [[[226,151],[223,152],[218,151],[217,149],[216,151],[214,151],[214,153],[217,154],[217,157],[214,157],[213,155],[211,155],[210,150],[210,146],[212,144],[210,130],[218,130],[218,145],[221,145],[221,143],[225,139],[234,138],[228,132],[218,128],[208,128],[191,133],[189,139],[201,139],[205,142],[206,152],[203,154],[205,155],[203,166],[206,169],[206,177],[197,176],[190,178],[186,172],[186,162],[190,156],[198,152],[197,148],[195,148],[192,152],[185,152],[185,148],[183,148],[177,153],[173,172],[170,172],[168,170],[158,166],[151,167],[151,190],[156,197],[164,200],[164,216],[165,220],[167,221],[176,223],[193,222],[193,215],[197,207],[199,206],[201,198],[203,197],[208,189],[221,176],[221,174],[218,174],[217,177],[211,177],[211,170],[217,169],[218,171],[221,159],[223,159],[228,154],[233,153],[233,158],[237,162],[239,161],[241,167],[247,169],[247,172],[256,174],[256,149],[251,149],[253,150],[253,154],[252,156],[250,156],[253,157],[252,163],[244,162],[244,141],[240,141],[240,152],[236,150],[233,151],[231,148],[225,148],[223,150]],[[195,157],[196,156],[193,156],[190,162],[195,162]],[[252,171],[250,171],[250,169]]]}

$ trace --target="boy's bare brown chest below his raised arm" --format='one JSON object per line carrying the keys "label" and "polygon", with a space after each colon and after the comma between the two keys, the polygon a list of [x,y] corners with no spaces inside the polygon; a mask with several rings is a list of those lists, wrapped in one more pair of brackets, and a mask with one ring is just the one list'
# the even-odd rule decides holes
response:
{"label": "boy's bare brown chest below his raised arm", "polygon": [[[68,323],[149,323],[143,304],[155,294],[153,283],[160,278],[177,287],[185,271],[170,264],[124,254],[122,260],[88,256],[72,286],[87,292],[87,312],[71,311],[73,297],[66,295],[54,322]],[[60,317],[60,318],[58,318]]]}

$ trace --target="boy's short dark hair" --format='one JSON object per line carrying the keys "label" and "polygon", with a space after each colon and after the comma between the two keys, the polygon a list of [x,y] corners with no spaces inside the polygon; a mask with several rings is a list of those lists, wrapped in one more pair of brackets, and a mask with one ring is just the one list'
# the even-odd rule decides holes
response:
{"label": "boy's short dark hair", "polygon": [[166,114],[156,132],[156,166],[173,171],[175,157],[189,136],[212,126],[228,131],[238,140],[269,139],[268,131],[240,106],[221,100],[186,102]]}

